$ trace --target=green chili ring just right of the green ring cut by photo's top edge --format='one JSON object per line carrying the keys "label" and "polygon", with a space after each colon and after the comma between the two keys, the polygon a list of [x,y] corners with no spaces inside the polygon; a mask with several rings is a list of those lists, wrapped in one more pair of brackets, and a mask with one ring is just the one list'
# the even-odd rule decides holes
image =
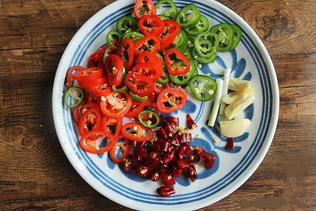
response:
{"label": "green chili ring just right of the green ring cut by photo's top edge", "polygon": [[176,21],[180,24],[181,28],[187,29],[197,25],[200,17],[201,13],[197,6],[193,3],[189,3],[180,10]]}

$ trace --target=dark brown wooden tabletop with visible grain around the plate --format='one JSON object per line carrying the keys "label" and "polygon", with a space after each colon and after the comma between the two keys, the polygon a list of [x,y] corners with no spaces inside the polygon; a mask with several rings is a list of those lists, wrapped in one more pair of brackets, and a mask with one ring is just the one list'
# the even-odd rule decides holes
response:
{"label": "dark brown wooden tabletop with visible grain around the plate", "polygon": [[[116,210],[67,160],[52,120],[68,42],[113,0],[0,0],[0,210]],[[316,209],[316,2],[220,0],[257,32],[280,92],[276,135],[237,191],[204,209]]]}

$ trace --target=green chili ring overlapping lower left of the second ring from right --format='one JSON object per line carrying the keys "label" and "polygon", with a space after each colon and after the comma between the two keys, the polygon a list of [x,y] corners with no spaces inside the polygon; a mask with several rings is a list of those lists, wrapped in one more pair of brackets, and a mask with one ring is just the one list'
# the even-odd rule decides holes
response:
{"label": "green chili ring overlapping lower left of the second ring from right", "polygon": [[203,58],[211,58],[219,47],[218,35],[213,32],[199,33],[194,40],[197,55]]}

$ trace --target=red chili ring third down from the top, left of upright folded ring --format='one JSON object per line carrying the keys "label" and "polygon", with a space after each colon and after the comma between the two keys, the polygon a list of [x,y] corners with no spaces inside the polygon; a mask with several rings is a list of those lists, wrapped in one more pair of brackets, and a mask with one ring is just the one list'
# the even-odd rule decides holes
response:
{"label": "red chili ring third down from the top, left of upright folded ring", "polygon": [[137,57],[144,51],[156,54],[160,47],[160,40],[155,35],[147,35],[134,42],[134,56]]}

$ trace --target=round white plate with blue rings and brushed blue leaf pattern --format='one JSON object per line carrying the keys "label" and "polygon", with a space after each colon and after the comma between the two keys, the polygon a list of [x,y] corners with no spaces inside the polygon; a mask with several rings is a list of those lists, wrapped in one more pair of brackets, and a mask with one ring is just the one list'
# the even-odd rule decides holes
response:
{"label": "round white plate with blue rings and brushed blue leaf pattern", "polygon": [[[71,110],[63,103],[67,69],[73,65],[87,66],[88,56],[105,43],[105,37],[115,30],[118,18],[131,13],[134,0],[118,0],[93,15],[76,33],[67,46],[57,69],[53,87],[53,117],[56,132],[70,163],[80,176],[105,197],[136,210],[195,210],[215,203],[235,191],[258,168],[272,142],[278,118],[279,94],[276,72],[267,49],[235,12],[215,0],[175,0],[178,8],[195,3],[201,13],[209,18],[210,26],[226,22],[242,29],[242,38],[231,52],[218,53],[216,62],[203,65],[200,73],[222,77],[224,68],[231,68],[233,77],[250,80],[256,100],[237,118],[248,118],[251,125],[235,139],[234,150],[225,150],[227,138],[221,137],[217,128],[207,127],[211,102],[200,102],[188,91],[188,101],[181,110],[172,115],[181,117],[186,125],[190,113],[197,129],[193,145],[203,147],[217,155],[212,169],[197,167],[198,179],[192,183],[188,178],[177,179],[176,194],[159,197],[159,182],[152,182],[125,174],[121,165],[111,162],[107,153],[92,155],[79,147],[79,135],[72,119]],[[219,140],[213,142],[213,138]]]}

